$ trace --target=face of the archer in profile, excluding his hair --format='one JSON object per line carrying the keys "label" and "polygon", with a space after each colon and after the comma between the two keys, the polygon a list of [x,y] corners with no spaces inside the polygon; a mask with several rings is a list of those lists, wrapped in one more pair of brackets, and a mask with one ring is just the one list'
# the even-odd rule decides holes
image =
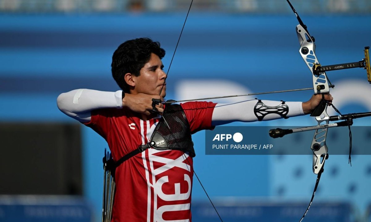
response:
{"label": "face of the archer in profile, excluding his hair", "polygon": [[[135,93],[145,93],[150,95],[160,95],[162,85],[165,82],[166,73],[161,59],[156,54],[151,54],[150,61],[144,64],[138,77],[133,77],[135,81]],[[166,84],[161,91],[161,96],[166,95]]]}

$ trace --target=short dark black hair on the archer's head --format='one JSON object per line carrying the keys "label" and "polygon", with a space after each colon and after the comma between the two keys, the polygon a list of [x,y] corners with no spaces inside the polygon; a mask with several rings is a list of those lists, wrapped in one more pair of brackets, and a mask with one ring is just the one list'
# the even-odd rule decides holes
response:
{"label": "short dark black hair on the archer's head", "polygon": [[160,59],[165,56],[165,50],[160,48],[160,43],[150,38],[128,40],[116,49],[112,55],[112,77],[124,92],[129,92],[129,85],[124,79],[125,74],[139,76],[141,68],[150,61],[151,53]]}

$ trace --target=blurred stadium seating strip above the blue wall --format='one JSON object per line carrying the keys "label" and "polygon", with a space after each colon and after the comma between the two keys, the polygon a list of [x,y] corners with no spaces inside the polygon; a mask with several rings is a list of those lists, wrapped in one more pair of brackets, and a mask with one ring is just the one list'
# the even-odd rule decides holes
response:
{"label": "blurred stadium seating strip above the blue wall", "polygon": [[[371,3],[367,0],[312,0],[293,1],[301,13],[368,14]],[[174,12],[189,7],[188,0],[1,0],[0,9],[12,13],[128,13]],[[274,0],[199,0],[193,11],[221,13],[269,13],[290,12],[280,1]]]}

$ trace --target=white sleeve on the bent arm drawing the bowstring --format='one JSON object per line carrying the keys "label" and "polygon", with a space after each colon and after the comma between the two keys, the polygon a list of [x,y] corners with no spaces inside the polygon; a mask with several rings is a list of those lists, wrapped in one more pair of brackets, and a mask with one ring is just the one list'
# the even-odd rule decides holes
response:
{"label": "white sleeve on the bent arm drawing the bowstring", "polygon": [[60,94],[57,105],[59,110],[69,117],[80,122],[89,122],[92,110],[122,108],[122,91],[72,90]]}

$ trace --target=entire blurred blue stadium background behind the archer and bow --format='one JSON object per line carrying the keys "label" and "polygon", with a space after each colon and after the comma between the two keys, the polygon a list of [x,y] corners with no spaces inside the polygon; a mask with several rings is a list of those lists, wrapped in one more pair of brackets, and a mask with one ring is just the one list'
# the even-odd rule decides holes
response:
{"label": "entire blurred blue stadium background behind the archer and bow", "polygon": [[[104,139],[56,106],[76,88],[116,91],[111,56],[137,37],[160,41],[170,63],[189,0],[0,0],[0,221],[98,222]],[[359,61],[371,44],[371,1],[292,0],[315,36],[324,65]],[[311,87],[300,58],[297,20],[285,0],[194,0],[170,70],[167,98],[184,99]],[[343,113],[371,110],[361,69],[328,73]],[[312,92],[259,96],[304,101]],[[253,97],[252,97],[253,98]],[[241,99],[241,98],[240,98]],[[240,100],[237,99],[237,100]],[[236,100],[219,100],[228,102]],[[334,112],[329,110],[332,114]],[[370,119],[353,134],[353,152],[370,147]],[[297,117],[243,126],[314,125]],[[357,126],[355,127],[357,129]],[[331,133],[330,133],[331,132]],[[330,129],[331,149],[348,146]],[[205,155],[204,132],[193,136],[195,171],[224,221],[299,220],[316,175],[311,155]],[[282,145],[309,144],[292,135]],[[270,141],[267,141],[269,143]],[[277,141],[275,141],[277,142]],[[371,160],[330,155],[304,221],[371,221]],[[217,221],[200,185],[193,221]]]}

